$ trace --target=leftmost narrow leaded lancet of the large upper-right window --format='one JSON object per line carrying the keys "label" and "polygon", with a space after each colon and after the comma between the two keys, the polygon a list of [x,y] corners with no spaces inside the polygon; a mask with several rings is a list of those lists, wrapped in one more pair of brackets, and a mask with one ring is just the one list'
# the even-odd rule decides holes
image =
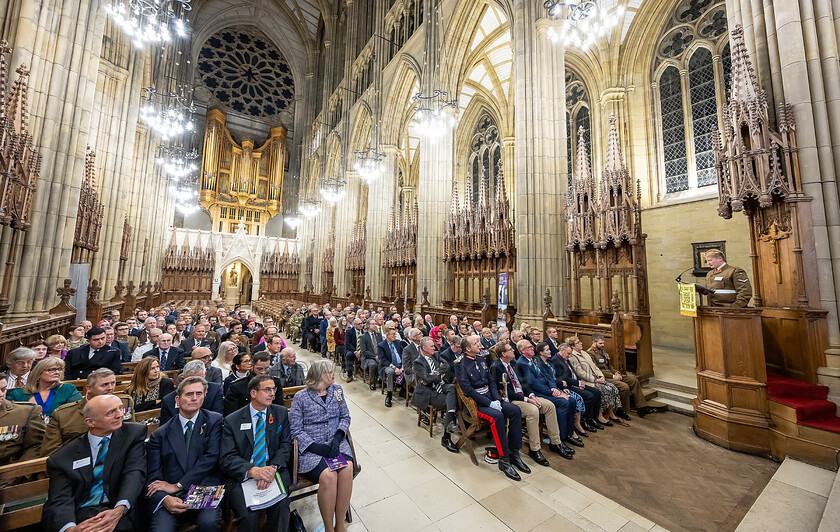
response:
{"label": "leftmost narrow leaded lancet of the large upper-right window", "polygon": [[659,105],[662,112],[662,147],[665,153],[665,190],[688,189],[688,165],[685,156],[685,119],[683,117],[680,72],[669,66],[659,78]]}

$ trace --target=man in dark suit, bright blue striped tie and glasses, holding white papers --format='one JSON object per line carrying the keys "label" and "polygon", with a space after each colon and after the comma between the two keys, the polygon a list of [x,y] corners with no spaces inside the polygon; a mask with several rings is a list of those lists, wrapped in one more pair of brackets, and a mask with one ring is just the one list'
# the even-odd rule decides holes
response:
{"label": "man in dark suit, bright blue striped tie and glasses, holding white papers", "polygon": [[257,489],[267,489],[272,482],[281,482],[284,490],[291,486],[287,468],[292,454],[289,414],[286,407],[272,404],[277,396],[282,401],[283,394],[268,375],[250,379],[248,394],[250,402],[225,418],[222,429],[220,464],[228,477],[228,502],[239,519],[240,532],[257,530],[263,513],[267,514],[264,530],[286,532],[289,498],[254,511],[246,505],[242,483],[254,479]]}

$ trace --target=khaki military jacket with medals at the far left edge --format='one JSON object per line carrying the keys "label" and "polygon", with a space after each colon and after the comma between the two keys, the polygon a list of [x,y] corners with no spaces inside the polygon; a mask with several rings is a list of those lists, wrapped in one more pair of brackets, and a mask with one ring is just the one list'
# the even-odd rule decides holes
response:
{"label": "khaki military jacket with medals at the far left edge", "polygon": [[0,401],[0,465],[38,458],[44,429],[40,406]]}

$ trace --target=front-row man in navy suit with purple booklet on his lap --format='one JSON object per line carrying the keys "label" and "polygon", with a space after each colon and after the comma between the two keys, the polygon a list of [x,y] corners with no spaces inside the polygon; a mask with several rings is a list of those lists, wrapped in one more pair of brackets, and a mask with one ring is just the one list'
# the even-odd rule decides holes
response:
{"label": "front-row man in navy suit with purple booklet on his lap", "polygon": [[219,530],[218,508],[187,510],[183,501],[193,484],[216,486],[222,482],[218,464],[223,418],[202,408],[207,390],[208,383],[201,377],[184,378],[173,392],[178,415],[149,439],[146,497],[152,532],[174,532],[185,522],[197,524],[198,530]]}

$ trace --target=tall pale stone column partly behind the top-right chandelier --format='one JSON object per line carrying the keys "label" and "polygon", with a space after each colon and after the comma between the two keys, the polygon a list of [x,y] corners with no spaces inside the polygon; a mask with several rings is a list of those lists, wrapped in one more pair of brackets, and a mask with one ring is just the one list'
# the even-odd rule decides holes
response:
{"label": "tall pale stone column partly behind the top-right chandelier", "polygon": [[546,36],[542,4],[517,0],[513,41],[516,113],[516,290],[517,319],[536,320],[543,294],[553,310],[566,308],[563,219],[568,187],[564,50]]}

